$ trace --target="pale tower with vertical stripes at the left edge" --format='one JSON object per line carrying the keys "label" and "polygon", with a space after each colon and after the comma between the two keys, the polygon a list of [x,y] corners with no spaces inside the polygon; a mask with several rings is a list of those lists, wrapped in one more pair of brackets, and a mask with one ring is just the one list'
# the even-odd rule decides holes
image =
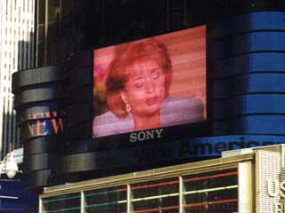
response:
{"label": "pale tower with vertical stripes at the left edge", "polygon": [[0,3],[0,159],[20,147],[13,110],[12,74],[34,66],[35,1]]}

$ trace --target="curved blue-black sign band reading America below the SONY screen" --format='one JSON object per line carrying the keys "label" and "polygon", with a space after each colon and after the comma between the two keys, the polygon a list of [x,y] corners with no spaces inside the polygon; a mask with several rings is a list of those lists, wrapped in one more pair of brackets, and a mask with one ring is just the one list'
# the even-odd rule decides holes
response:
{"label": "curved blue-black sign band reading America below the SONY screen", "polygon": [[[144,142],[142,142],[144,143]],[[256,146],[284,144],[285,137],[232,135],[190,138],[166,143],[151,143],[105,152],[70,154],[64,164],[67,170],[104,170],[137,166],[154,162],[173,162],[208,157],[220,157],[221,152]],[[273,162],[271,161],[273,164]],[[285,177],[284,177],[285,179]],[[267,187],[265,185],[265,187]]]}

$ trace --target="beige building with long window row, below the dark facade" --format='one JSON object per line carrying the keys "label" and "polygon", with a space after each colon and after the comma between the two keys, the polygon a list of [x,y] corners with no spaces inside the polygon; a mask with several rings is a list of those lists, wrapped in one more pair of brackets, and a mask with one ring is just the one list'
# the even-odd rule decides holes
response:
{"label": "beige building with long window row, below the dark facade", "polygon": [[40,212],[284,212],[285,146],[47,187]]}

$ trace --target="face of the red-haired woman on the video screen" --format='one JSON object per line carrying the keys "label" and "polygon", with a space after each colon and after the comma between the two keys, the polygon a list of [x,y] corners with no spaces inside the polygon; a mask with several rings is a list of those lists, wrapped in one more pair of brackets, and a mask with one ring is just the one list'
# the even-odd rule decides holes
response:
{"label": "face of the red-haired woman on the video screen", "polygon": [[147,116],[159,112],[166,93],[164,70],[155,60],[142,59],[129,67],[129,74],[121,96],[131,106],[131,113]]}

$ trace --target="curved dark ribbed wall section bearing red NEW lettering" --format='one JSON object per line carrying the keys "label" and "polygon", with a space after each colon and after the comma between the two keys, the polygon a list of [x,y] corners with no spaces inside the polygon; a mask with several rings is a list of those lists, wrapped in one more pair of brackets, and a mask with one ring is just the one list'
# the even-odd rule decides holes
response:
{"label": "curved dark ribbed wall section bearing red NEW lettering", "polygon": [[64,88],[64,66],[22,70],[12,79],[14,107],[24,143],[23,170],[28,186],[47,185],[51,166],[61,154],[64,111],[69,98]]}

